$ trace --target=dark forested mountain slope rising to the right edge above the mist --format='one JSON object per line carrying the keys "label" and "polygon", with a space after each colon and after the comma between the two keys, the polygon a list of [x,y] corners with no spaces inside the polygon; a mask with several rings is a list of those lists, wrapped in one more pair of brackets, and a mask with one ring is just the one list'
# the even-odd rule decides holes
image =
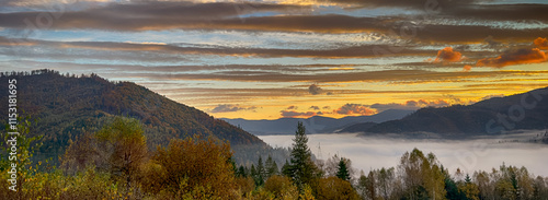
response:
{"label": "dark forested mountain slope rising to the right edge above the mist", "polygon": [[[356,125],[359,126],[359,125]],[[399,119],[362,129],[349,127],[341,132],[418,133],[432,132],[444,137],[500,133],[511,130],[548,128],[548,87],[494,97],[472,105],[422,108]]]}

